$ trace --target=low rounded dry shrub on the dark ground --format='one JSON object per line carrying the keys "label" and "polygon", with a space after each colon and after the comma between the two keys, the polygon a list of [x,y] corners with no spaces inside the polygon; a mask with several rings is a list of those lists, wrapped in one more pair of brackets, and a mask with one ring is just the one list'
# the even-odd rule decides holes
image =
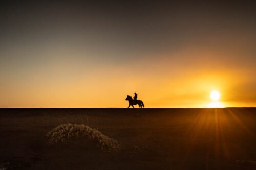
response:
{"label": "low rounded dry shrub on the dark ground", "polygon": [[120,148],[116,140],[84,124],[61,124],[48,132],[46,137],[48,137],[50,145],[63,143],[86,146],[95,144],[101,149],[109,151],[117,151]]}

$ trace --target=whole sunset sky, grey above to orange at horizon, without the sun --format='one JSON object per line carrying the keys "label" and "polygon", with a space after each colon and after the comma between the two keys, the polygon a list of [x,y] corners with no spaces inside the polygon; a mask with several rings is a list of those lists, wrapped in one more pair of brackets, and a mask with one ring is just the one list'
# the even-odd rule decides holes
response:
{"label": "whole sunset sky, grey above to orange at horizon, without the sun", "polygon": [[4,1],[0,107],[256,107],[253,1]]}

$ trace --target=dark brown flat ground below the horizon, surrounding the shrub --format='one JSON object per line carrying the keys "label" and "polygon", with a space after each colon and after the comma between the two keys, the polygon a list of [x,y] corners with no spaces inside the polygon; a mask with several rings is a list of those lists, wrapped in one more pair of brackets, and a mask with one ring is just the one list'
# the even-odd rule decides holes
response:
{"label": "dark brown flat ground below the horizon, surrounding the shrub", "polygon": [[[62,123],[122,144],[47,145]],[[0,109],[0,169],[256,169],[256,108]]]}

